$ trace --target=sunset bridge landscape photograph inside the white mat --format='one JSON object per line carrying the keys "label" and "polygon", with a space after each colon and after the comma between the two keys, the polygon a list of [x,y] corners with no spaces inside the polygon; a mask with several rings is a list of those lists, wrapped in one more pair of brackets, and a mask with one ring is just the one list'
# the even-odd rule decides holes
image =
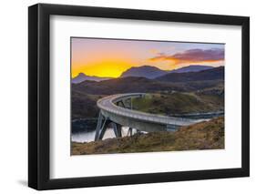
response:
{"label": "sunset bridge landscape photograph inside the white mat", "polygon": [[70,37],[71,156],[225,148],[225,44]]}

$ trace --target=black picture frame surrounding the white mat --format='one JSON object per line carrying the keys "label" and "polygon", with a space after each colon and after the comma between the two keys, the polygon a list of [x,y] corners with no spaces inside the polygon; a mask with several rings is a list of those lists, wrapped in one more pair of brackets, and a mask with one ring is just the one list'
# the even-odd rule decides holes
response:
{"label": "black picture frame surrounding the white mat", "polygon": [[[49,19],[50,15],[91,16],[148,21],[241,26],[242,124],[241,168],[206,169],[118,176],[50,179]],[[250,18],[78,5],[37,4],[28,7],[28,186],[69,189],[179,180],[250,176]]]}

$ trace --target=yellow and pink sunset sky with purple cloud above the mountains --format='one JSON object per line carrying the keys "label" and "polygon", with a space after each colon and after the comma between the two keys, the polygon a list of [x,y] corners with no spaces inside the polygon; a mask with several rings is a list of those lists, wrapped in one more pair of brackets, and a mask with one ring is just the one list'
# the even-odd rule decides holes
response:
{"label": "yellow and pink sunset sky with purple cloud above the mountains", "polygon": [[132,66],[172,70],[189,65],[224,66],[223,44],[71,38],[72,77],[119,77]]}

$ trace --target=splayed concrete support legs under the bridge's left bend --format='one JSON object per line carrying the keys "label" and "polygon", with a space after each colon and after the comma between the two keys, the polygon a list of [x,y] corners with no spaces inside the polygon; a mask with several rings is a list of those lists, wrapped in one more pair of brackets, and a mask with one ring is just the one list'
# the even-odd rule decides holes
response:
{"label": "splayed concrete support legs under the bridge's left bend", "polygon": [[109,125],[111,125],[111,127],[113,128],[117,138],[122,137],[122,130],[121,130],[122,126],[119,125],[118,123],[111,121],[108,117],[104,117],[100,111],[97,119],[95,141],[101,140],[104,137],[105,132]]}

